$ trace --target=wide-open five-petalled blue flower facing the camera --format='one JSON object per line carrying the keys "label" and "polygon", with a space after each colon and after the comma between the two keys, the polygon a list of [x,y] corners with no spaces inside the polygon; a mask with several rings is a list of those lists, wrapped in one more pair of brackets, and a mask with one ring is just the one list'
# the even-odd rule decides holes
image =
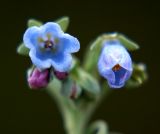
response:
{"label": "wide-open five-petalled blue flower facing the camera", "polygon": [[53,22],[28,28],[23,41],[30,49],[29,56],[33,64],[40,70],[53,67],[60,72],[69,71],[72,65],[71,53],[80,49],[79,41],[64,33]]}

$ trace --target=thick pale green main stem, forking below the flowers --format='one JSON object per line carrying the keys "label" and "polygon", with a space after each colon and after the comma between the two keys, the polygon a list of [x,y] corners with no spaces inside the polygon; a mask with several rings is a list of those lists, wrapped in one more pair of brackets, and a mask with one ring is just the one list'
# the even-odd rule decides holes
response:
{"label": "thick pale green main stem, forking below the flowers", "polygon": [[93,102],[82,101],[77,106],[72,99],[61,95],[61,84],[57,82],[49,84],[47,92],[57,102],[67,134],[85,134],[87,123],[104,95],[99,95]]}

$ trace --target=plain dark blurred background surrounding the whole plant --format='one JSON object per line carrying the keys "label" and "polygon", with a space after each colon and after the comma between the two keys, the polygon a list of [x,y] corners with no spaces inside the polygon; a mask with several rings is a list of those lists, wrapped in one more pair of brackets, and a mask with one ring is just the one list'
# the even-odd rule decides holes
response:
{"label": "plain dark blurred background surrounding the whole plant", "polygon": [[83,59],[90,41],[103,32],[119,31],[138,42],[135,62],[145,62],[149,80],[134,90],[116,90],[92,120],[104,119],[111,131],[124,134],[160,133],[159,8],[152,1],[2,1],[0,4],[0,134],[63,134],[56,104],[43,91],[29,90],[30,59],[16,54],[29,18],[44,22],[70,16],[68,32],[81,42]]}

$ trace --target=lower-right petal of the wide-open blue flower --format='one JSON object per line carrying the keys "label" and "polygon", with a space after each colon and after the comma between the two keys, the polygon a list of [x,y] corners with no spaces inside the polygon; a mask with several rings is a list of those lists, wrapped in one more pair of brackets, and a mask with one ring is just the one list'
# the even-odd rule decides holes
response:
{"label": "lower-right petal of the wide-open blue flower", "polygon": [[52,57],[51,64],[56,71],[68,72],[72,65],[71,54],[58,53]]}

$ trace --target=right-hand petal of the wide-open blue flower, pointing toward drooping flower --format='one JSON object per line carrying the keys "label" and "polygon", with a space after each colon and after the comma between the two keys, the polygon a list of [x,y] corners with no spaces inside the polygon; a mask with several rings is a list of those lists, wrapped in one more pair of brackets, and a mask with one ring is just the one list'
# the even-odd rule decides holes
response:
{"label": "right-hand petal of the wide-open blue flower, pointing toward drooping flower", "polygon": [[62,35],[60,38],[60,45],[62,45],[62,51],[67,53],[78,52],[80,49],[80,43],[78,39],[69,34]]}

